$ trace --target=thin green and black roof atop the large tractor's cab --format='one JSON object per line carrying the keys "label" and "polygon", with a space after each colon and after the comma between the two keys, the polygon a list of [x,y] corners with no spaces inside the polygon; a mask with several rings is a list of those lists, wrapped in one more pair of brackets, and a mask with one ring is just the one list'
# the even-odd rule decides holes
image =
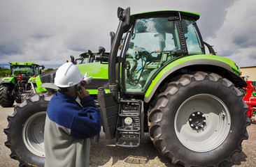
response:
{"label": "thin green and black roof atop the large tractor's cab", "polygon": [[192,13],[192,12],[186,12],[186,11],[180,11],[180,10],[159,10],[159,11],[151,11],[151,12],[146,12],[146,13],[136,13],[133,14],[132,16],[135,18],[139,17],[160,17],[160,16],[171,16],[171,15],[178,15],[180,13],[181,17],[192,17],[194,18],[195,21],[199,19],[200,14],[199,13]]}

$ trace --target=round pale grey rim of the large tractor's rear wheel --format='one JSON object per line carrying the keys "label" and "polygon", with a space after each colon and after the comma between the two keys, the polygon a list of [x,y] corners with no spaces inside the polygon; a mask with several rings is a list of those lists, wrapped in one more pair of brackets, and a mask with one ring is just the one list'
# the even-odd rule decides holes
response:
{"label": "round pale grey rim of the large tractor's rear wheel", "polygon": [[174,120],[180,143],[195,152],[208,152],[218,148],[230,130],[227,106],[218,97],[199,94],[180,105]]}

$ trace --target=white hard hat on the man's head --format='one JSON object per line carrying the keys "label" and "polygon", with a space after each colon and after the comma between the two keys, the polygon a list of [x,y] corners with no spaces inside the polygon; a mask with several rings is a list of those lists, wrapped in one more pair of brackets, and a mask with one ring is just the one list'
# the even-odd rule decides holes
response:
{"label": "white hard hat on the man's head", "polygon": [[59,67],[55,75],[55,85],[59,88],[75,86],[83,79],[83,74],[73,63],[65,63]]}

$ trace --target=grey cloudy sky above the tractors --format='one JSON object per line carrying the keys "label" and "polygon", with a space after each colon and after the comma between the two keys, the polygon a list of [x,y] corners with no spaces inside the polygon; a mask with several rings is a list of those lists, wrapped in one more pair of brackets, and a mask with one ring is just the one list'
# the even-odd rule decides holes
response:
{"label": "grey cloudy sky above the tractors", "polygon": [[240,67],[256,66],[255,0],[0,0],[0,66],[29,61],[57,68],[99,46],[110,50],[118,7],[131,13],[185,10],[200,13],[204,41]]}

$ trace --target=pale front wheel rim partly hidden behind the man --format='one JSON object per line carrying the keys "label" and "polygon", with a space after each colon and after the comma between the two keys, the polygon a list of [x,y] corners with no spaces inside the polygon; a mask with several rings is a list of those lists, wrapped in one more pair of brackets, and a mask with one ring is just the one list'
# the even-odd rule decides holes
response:
{"label": "pale front wheel rim partly hidden behind the man", "polygon": [[39,157],[45,157],[44,127],[46,112],[35,113],[25,122],[22,139],[27,149]]}

